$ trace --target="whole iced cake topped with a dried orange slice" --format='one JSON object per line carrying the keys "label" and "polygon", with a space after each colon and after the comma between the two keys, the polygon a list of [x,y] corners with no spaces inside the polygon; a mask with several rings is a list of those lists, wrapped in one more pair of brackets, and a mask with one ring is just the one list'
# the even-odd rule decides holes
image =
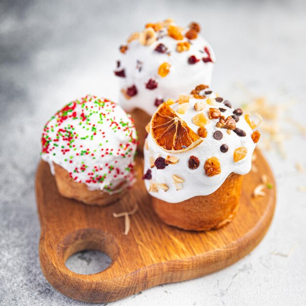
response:
{"label": "whole iced cake topped with a dried orange slice", "polygon": [[206,85],[177,98],[161,104],[147,127],[143,179],[165,223],[217,229],[237,213],[260,132]]}

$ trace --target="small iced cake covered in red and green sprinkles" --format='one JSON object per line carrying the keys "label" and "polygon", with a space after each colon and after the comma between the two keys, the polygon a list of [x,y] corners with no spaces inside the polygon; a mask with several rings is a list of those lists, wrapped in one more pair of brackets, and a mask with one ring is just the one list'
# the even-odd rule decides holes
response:
{"label": "small iced cake covered in red and green sprinkles", "polygon": [[46,123],[41,156],[62,196],[107,205],[132,186],[136,148],[131,116],[107,99],[87,95]]}

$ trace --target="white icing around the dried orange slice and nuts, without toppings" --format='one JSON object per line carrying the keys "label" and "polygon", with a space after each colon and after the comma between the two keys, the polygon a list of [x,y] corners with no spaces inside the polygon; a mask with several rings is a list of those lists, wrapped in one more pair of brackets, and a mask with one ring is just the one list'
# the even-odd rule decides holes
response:
{"label": "white icing around the dried orange slice and nuts, without toppings", "polygon": [[[209,88],[205,90],[210,90]],[[200,94],[203,94],[202,92]],[[206,99],[195,99],[191,98],[187,111],[184,114],[177,114],[182,118],[187,125],[195,132],[197,132],[198,126],[192,122],[192,118],[199,112],[203,112],[207,117],[209,108],[223,108],[225,112],[221,112],[221,115],[228,117],[233,115],[234,108],[230,109],[226,107],[223,102],[214,102],[214,105],[206,105],[206,108],[201,111],[194,109],[194,104],[199,101],[206,101],[207,98],[215,98],[216,94],[212,92],[210,95],[206,95]],[[206,104],[206,102],[205,102]],[[177,110],[178,103],[171,105],[173,110]],[[156,169],[153,167],[152,170],[152,182],[158,184],[165,183],[169,190],[166,192],[162,189],[158,189],[157,192],[149,192],[151,196],[164,200],[170,203],[177,203],[186,199],[196,196],[206,196],[215,192],[224,182],[228,175],[236,173],[245,175],[251,170],[252,166],[252,153],[255,149],[255,143],[253,142],[251,135],[252,129],[244,119],[244,114],[241,115],[240,120],[236,123],[236,127],[245,131],[246,136],[240,137],[234,131],[230,134],[227,133],[226,129],[219,129],[216,127],[216,123],[219,119],[211,119],[210,122],[205,126],[207,130],[207,137],[202,138],[203,141],[194,149],[191,149],[183,153],[167,153],[161,147],[159,147],[153,140],[151,133],[147,137],[148,149],[144,148],[144,173],[150,168],[150,156],[153,156],[155,160],[161,156],[166,158],[167,155],[174,155],[179,158],[177,164],[170,164],[165,169]],[[213,137],[215,131],[221,131],[223,138],[216,140]],[[228,145],[228,152],[222,153],[220,146],[222,144]],[[247,148],[247,155],[238,162],[234,162],[234,150],[240,147]],[[200,163],[197,169],[190,169],[188,167],[188,161],[191,155],[197,156]],[[204,171],[205,161],[216,156],[220,162],[221,173],[219,175],[207,176]],[[176,190],[173,182],[172,175],[178,175],[184,179],[182,183],[182,189]],[[147,190],[150,189],[150,180],[145,180]]]}

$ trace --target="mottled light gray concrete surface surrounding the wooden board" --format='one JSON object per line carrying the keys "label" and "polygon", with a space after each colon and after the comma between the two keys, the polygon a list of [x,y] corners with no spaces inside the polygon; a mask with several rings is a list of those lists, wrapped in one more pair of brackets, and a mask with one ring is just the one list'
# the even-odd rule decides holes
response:
{"label": "mottled light gray concrete surface surrounding the wooden board", "polygon": [[[109,305],[306,305],[305,1],[0,1],[0,305],[87,305],[47,283],[39,265],[34,175],[40,134],[64,103],[94,93],[116,99],[115,51],[147,21],[198,21],[218,63],[213,87],[243,102],[244,84],[273,102],[296,104],[280,123],[286,159],[265,155],[277,180],[272,225],[240,262],[184,283],[143,291]],[[291,250],[291,252],[290,252]],[[98,259],[97,259],[98,258]],[[106,260],[107,259],[103,259]],[[79,254],[71,269],[99,265]]]}

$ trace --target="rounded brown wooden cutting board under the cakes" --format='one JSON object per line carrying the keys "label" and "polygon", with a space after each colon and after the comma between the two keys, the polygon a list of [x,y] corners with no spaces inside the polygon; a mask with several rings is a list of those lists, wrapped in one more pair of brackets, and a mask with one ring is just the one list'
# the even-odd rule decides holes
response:
{"label": "rounded brown wooden cutting board under the cakes", "polygon": [[[36,197],[41,237],[39,255],[47,281],[73,299],[100,303],[122,299],[156,286],[194,279],[220,270],[248,254],[266,233],[274,211],[275,188],[264,197],[252,197],[266,174],[275,186],[271,170],[257,150],[258,172],[244,177],[240,209],[233,222],[209,232],[183,231],[168,226],[154,214],[141,180],[143,160],[136,158],[138,181],[119,202],[87,206],[61,197],[49,165],[40,162],[36,175]],[[113,212],[138,211],[131,216],[126,236],[124,218]],[[109,255],[110,266],[96,274],[70,271],[66,260],[82,250]]]}

